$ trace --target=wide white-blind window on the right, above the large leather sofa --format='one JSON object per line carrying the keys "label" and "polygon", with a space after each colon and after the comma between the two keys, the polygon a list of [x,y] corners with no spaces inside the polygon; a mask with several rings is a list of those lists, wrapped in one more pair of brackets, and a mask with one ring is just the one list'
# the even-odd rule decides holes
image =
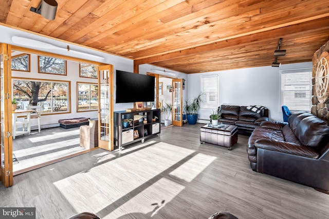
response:
{"label": "wide white-blind window on the right, above the large leather sofa", "polygon": [[281,105],[290,111],[310,112],[312,107],[312,69],[281,71]]}

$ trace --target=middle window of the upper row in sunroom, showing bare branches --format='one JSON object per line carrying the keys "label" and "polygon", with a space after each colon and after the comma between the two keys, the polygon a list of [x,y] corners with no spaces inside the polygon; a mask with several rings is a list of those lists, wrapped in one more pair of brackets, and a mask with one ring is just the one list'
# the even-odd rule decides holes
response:
{"label": "middle window of the upper row in sunroom, showing bare branches", "polygon": [[66,61],[47,56],[38,56],[39,73],[66,75]]}

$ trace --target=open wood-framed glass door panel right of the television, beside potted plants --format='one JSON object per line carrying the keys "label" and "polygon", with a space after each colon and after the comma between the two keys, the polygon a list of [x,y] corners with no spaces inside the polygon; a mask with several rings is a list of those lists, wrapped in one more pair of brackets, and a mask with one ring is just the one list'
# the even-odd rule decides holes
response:
{"label": "open wood-framed glass door panel right of the television, beside potted plants", "polygon": [[182,79],[173,79],[172,88],[172,124],[182,126]]}

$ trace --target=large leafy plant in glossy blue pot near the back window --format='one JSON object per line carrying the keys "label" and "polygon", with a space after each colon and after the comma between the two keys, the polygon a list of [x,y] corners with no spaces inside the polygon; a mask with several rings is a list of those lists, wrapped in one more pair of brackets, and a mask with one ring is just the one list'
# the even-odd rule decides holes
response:
{"label": "large leafy plant in glossy blue pot near the back window", "polygon": [[197,116],[202,103],[202,93],[193,99],[185,100],[184,112],[189,124],[194,125],[197,121]]}

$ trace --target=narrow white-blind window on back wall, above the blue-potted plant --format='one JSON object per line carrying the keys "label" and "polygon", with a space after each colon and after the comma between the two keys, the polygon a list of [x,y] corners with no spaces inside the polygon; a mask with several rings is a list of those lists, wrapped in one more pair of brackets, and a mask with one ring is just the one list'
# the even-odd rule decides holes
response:
{"label": "narrow white-blind window on back wall, above the blue-potted plant", "polygon": [[203,108],[218,107],[218,75],[201,76]]}

